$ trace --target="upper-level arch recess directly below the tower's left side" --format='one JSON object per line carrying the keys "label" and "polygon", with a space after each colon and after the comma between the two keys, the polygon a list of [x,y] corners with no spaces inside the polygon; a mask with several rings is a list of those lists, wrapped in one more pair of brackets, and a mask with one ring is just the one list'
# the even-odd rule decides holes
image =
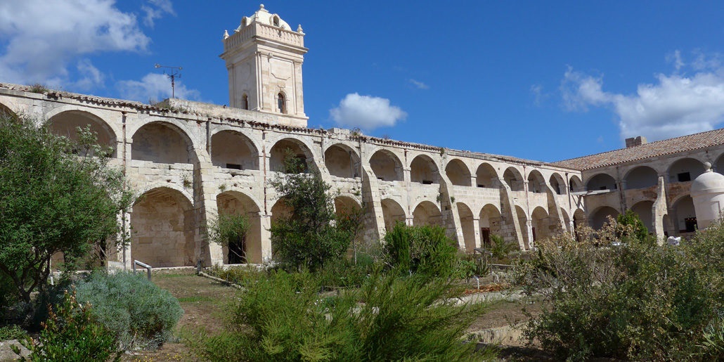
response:
{"label": "upper-level arch recess directly below the tower's left side", "polygon": [[221,130],[211,136],[211,164],[223,169],[259,169],[259,151],[242,132]]}

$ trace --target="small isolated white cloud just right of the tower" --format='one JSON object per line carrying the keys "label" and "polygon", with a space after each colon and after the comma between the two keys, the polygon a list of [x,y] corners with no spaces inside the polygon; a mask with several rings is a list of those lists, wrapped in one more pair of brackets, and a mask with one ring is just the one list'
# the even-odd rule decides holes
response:
{"label": "small isolated white cloud just right of the tower", "polygon": [[397,106],[390,106],[390,100],[373,96],[350,93],[340,105],[329,109],[329,115],[342,127],[360,127],[373,130],[377,127],[391,127],[405,119],[407,113]]}

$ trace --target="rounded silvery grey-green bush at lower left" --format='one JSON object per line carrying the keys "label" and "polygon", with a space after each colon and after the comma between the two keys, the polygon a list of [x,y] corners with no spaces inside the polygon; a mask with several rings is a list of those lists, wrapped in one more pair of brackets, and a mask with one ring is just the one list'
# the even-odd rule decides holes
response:
{"label": "rounded silvery grey-green bush at lower left", "polygon": [[126,350],[167,342],[183,314],[171,293],[131,273],[94,272],[77,283],[77,298],[96,306],[93,314],[117,334]]}

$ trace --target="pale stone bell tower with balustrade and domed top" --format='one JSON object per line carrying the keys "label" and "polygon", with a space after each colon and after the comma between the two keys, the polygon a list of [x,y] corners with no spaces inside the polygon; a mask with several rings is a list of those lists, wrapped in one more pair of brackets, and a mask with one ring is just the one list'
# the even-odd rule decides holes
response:
{"label": "pale stone bell tower with balustrade and domed top", "polygon": [[302,63],[307,51],[302,26],[291,30],[263,4],[243,17],[232,35],[224,30],[221,58],[229,71],[230,105],[289,117],[290,124],[306,127]]}

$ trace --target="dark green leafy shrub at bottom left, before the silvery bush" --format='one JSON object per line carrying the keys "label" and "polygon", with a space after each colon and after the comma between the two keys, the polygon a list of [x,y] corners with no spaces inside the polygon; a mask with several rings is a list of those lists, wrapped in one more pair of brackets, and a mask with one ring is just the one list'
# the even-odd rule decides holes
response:
{"label": "dark green leafy shrub at bottom left, before the silvery bush", "polygon": [[[75,292],[66,292],[62,303],[43,323],[38,339],[20,340],[30,350],[22,361],[119,361],[123,353],[116,335],[93,315],[90,304],[78,303]],[[11,346],[20,355],[20,348]]]}

